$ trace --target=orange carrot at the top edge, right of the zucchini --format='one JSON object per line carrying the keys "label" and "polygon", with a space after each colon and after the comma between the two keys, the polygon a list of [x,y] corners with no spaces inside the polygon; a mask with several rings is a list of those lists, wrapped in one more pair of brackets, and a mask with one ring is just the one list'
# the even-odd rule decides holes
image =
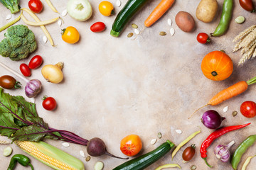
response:
{"label": "orange carrot at the top edge, right of the zucchini", "polygon": [[154,8],[154,11],[150,13],[149,17],[146,18],[146,21],[144,22],[144,25],[146,27],[150,27],[153,23],[155,23],[161,16],[166,13],[166,11],[174,4],[175,0],[162,0],[156,8]]}

